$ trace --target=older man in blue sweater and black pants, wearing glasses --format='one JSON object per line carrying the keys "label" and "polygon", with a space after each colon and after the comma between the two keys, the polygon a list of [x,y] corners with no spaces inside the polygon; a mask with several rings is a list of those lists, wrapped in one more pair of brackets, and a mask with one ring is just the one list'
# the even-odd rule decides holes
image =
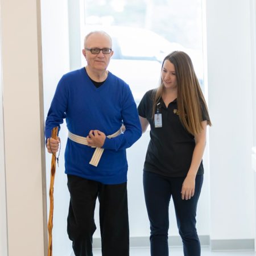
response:
{"label": "older man in blue sweater and black pants, wearing glasses", "polygon": [[66,118],[65,173],[71,196],[68,236],[75,255],[93,255],[98,198],[102,255],[128,256],[126,148],[141,137],[141,125],[129,86],[107,71],[113,55],[110,36],[90,32],[82,54],[86,67],[67,73],[57,85],[46,119],[47,150],[57,152],[59,139],[50,138],[51,130]]}

